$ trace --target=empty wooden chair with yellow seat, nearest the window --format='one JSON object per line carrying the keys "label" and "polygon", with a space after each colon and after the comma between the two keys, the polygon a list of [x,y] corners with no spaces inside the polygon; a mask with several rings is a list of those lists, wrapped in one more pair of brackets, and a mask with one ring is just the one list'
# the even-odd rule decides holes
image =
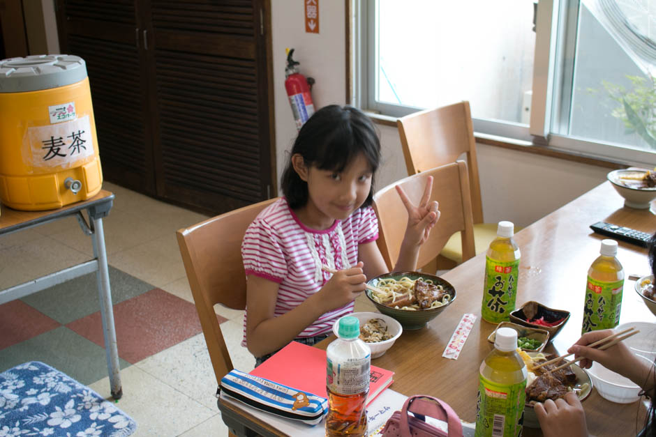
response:
{"label": "empty wooden chair with yellow seat, nearest the window", "polygon": [[[465,154],[469,170],[476,253],[485,252],[496,237],[497,224],[483,222],[476,142],[469,102],[415,112],[399,118],[396,124],[408,174],[417,174],[454,162]],[[459,240],[457,234],[449,239],[440,253],[440,268],[452,268],[463,261]]]}

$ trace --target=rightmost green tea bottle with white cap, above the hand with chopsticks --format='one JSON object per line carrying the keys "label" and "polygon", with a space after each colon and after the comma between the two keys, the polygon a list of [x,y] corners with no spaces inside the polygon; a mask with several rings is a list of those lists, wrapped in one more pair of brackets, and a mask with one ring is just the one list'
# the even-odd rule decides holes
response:
{"label": "rightmost green tea bottle with white cap, above the hand with chopsticks", "polygon": [[601,254],[588,269],[581,333],[614,328],[620,323],[624,269],[615,257],[616,240],[602,240]]}

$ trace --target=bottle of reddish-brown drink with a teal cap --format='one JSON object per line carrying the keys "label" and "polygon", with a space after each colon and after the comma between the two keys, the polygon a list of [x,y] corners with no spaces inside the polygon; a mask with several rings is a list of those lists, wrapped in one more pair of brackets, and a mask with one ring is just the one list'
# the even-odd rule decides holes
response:
{"label": "bottle of reddish-brown drink with a teal cap", "polygon": [[365,436],[371,350],[358,338],[355,317],[339,320],[338,338],[328,345],[326,436]]}

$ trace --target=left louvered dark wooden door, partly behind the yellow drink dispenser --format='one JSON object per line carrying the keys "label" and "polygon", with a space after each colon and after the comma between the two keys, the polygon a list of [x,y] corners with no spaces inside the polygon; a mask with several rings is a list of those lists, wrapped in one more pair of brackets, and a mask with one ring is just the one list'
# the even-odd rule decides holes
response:
{"label": "left louvered dark wooden door, partly behind the yellow drink dispenser", "polygon": [[87,63],[105,179],[155,194],[139,15],[134,0],[57,0],[61,51]]}

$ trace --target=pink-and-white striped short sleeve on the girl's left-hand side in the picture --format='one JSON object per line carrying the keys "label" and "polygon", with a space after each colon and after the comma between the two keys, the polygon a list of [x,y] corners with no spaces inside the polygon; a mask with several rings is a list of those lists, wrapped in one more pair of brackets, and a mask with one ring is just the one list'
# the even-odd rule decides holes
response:
{"label": "pink-and-white striped short sleeve on the girl's left-hand side in the picture", "polygon": [[241,243],[246,275],[255,275],[280,284],[287,276],[287,263],[276,231],[264,220],[255,219]]}

